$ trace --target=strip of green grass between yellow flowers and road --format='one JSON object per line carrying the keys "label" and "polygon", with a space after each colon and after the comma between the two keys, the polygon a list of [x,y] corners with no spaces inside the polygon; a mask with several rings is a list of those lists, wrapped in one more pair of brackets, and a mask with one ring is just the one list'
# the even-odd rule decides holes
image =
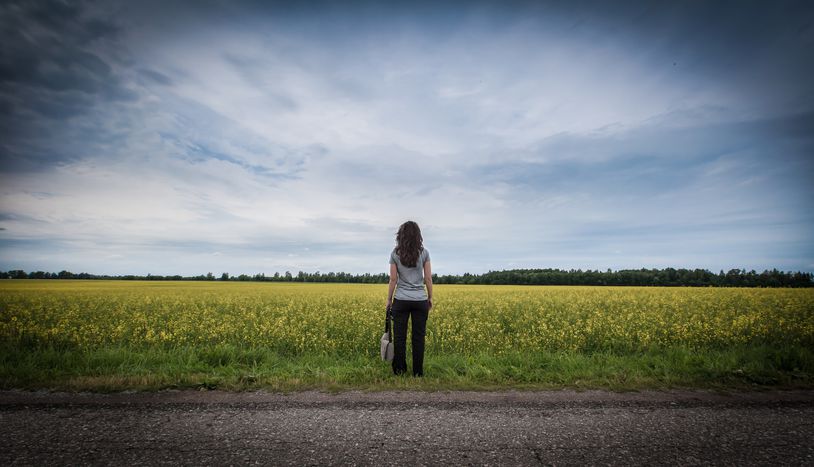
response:
{"label": "strip of green grass between yellow flowers and road", "polygon": [[424,372],[423,378],[396,377],[388,363],[371,355],[289,356],[228,345],[141,350],[7,347],[0,356],[2,389],[637,390],[812,388],[814,352],[790,345],[701,352],[676,346],[637,353],[430,353]]}

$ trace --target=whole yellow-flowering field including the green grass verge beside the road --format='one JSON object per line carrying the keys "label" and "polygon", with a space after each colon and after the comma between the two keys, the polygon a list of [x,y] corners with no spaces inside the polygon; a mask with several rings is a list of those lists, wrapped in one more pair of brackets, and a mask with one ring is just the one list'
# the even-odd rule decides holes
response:
{"label": "whole yellow-flowering field including the green grass verge beside the road", "polygon": [[422,378],[379,358],[386,294],[0,281],[0,389],[814,387],[814,289],[435,286]]}

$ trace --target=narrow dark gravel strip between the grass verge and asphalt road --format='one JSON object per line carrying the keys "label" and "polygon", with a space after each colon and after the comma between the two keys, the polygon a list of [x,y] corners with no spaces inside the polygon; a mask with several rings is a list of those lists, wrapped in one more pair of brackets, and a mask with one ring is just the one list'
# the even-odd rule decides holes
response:
{"label": "narrow dark gravel strip between the grass verge and asphalt road", "polygon": [[590,405],[810,405],[814,390],[710,391],[665,390],[613,392],[604,390],[554,391],[124,391],[116,393],[0,391],[0,408],[15,405],[391,405],[416,404],[497,406],[590,406]]}

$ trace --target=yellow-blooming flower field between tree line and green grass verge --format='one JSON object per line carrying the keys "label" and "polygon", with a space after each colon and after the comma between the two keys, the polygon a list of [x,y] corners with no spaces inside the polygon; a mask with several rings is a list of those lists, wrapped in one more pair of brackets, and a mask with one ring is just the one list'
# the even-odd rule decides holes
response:
{"label": "yellow-blooming flower field between tree line and green grass verge", "polygon": [[[260,349],[384,367],[376,359],[386,293],[386,285],[368,284],[3,281],[0,343],[17,352],[3,371],[9,378],[24,352],[54,358],[105,349]],[[434,295],[427,354],[437,362],[814,348],[814,289],[441,285]]]}

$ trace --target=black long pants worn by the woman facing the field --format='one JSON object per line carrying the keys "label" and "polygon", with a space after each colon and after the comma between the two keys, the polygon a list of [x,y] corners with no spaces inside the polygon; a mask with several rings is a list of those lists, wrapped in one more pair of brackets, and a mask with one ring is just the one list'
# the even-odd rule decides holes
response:
{"label": "black long pants worn by the woman facing the field", "polygon": [[413,376],[424,374],[424,335],[430,303],[427,300],[393,300],[393,373],[407,371],[407,320],[413,318]]}

